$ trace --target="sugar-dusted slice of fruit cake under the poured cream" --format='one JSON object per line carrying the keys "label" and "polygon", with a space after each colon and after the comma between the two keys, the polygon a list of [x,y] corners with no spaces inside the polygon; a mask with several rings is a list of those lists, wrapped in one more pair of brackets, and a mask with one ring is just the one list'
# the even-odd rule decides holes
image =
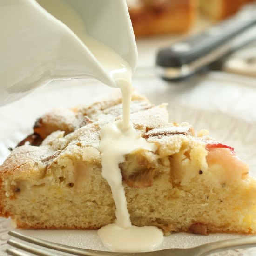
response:
{"label": "sugar-dusted slice of fruit cake under the poured cream", "polygon": [[[1,216],[23,229],[99,229],[114,222],[98,146],[100,128],[120,119],[121,110],[118,94],[44,115],[34,128],[40,146],[25,143],[0,166]],[[169,123],[165,104],[140,95],[133,95],[131,112],[135,129],[158,148],[137,149],[120,163],[134,225],[155,225],[165,234],[256,232],[256,181],[233,148],[206,131],[195,136],[187,123]]]}

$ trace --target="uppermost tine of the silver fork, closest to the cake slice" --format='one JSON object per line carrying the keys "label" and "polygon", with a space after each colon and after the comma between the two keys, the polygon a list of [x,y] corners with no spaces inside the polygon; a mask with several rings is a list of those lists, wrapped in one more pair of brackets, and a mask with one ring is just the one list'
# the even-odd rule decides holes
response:
{"label": "uppermost tine of the silver fork, closest to the cake slice", "polygon": [[16,237],[16,238],[26,241],[28,243],[34,243],[34,244],[42,246],[42,247],[54,249],[54,250],[61,251],[61,252],[67,252],[67,253],[74,254],[74,255],[80,255],[80,256],[113,256],[113,255],[120,256],[120,255],[123,255],[118,252],[82,249],[82,248],[76,248],[76,247],[68,246],[68,245],[64,245],[64,244],[53,243],[53,242],[49,242],[49,241],[46,241],[43,239],[35,238],[33,236],[24,235],[17,231],[9,231],[8,234],[10,236]]}

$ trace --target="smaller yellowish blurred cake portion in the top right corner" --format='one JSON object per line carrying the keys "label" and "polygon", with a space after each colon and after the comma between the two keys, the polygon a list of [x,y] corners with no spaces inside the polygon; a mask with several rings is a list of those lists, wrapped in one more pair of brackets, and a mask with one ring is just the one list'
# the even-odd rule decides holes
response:
{"label": "smaller yellowish blurred cake portion in the top right corner", "polygon": [[[254,0],[200,0],[201,12],[213,20],[223,20]],[[255,14],[256,15],[256,14]]]}

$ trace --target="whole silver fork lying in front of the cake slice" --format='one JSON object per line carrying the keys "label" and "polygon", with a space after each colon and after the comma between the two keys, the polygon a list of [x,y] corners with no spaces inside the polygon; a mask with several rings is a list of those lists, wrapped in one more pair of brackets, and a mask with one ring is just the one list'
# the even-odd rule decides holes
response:
{"label": "whole silver fork lying in front of the cake slice", "polygon": [[[142,252],[142,253],[119,253],[119,252],[107,252],[98,250],[81,249],[73,246],[62,245],[59,243],[48,242],[33,236],[27,236],[17,231],[9,231],[10,236],[16,237],[22,241],[36,244],[49,249],[54,249],[59,252],[66,252],[73,255],[80,256],[203,256],[212,252],[222,251],[224,249],[237,249],[249,246],[256,246],[256,236],[249,236],[245,238],[230,239],[224,241],[218,241],[214,243],[206,243],[200,246],[196,246],[188,249],[165,249],[153,252]],[[24,251],[33,253],[40,256],[61,256],[61,254],[51,252],[46,249],[36,248],[31,244],[19,242],[14,239],[9,239],[8,244],[22,249]],[[13,256],[27,256],[26,253],[18,251],[16,249],[9,248],[6,250],[7,253]]]}

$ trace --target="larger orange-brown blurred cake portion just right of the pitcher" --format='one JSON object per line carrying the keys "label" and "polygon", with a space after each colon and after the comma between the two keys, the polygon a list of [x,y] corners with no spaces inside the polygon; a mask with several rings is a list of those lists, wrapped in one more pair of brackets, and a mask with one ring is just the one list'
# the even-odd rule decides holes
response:
{"label": "larger orange-brown blurred cake portion just right of the pitcher", "polygon": [[197,0],[127,0],[135,36],[183,33],[192,26]]}

